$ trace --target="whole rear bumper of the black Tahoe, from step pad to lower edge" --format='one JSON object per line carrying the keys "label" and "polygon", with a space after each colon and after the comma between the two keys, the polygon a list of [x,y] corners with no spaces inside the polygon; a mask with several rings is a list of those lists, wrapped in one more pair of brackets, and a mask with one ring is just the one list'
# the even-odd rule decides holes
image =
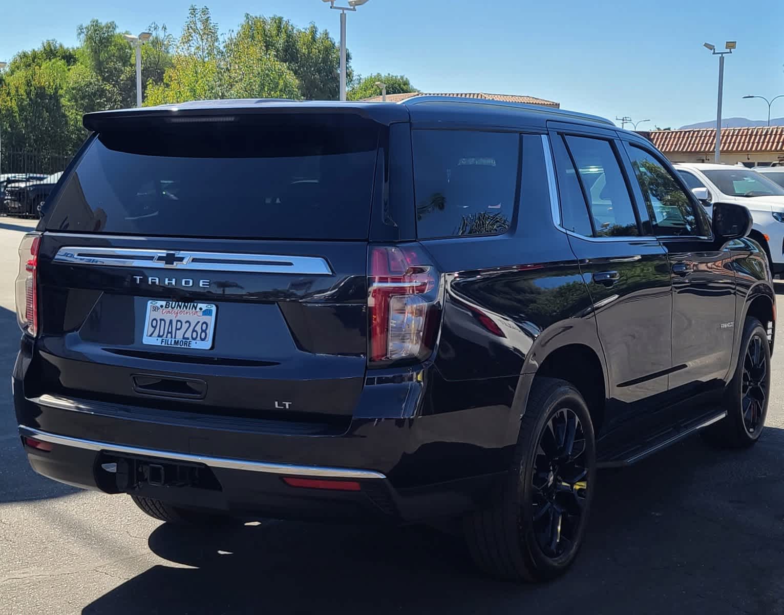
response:
{"label": "whole rear bumper of the black Tahoe, from step pad to lower edge", "polygon": [[[20,362],[17,375],[24,371]],[[511,399],[508,405],[430,416],[354,418],[339,435],[307,435],[163,409],[53,395],[26,398],[23,380],[15,377],[13,387],[20,436],[51,445],[42,451],[22,441],[39,474],[85,489],[236,515],[392,522],[460,515],[481,507],[499,488],[517,438]],[[500,384],[494,383],[495,390],[510,390]],[[371,394],[376,411],[385,397],[380,392]],[[472,405],[469,396],[461,396]],[[118,486],[103,466],[126,459],[198,466],[215,485]],[[290,486],[285,477],[350,481],[359,489]]]}

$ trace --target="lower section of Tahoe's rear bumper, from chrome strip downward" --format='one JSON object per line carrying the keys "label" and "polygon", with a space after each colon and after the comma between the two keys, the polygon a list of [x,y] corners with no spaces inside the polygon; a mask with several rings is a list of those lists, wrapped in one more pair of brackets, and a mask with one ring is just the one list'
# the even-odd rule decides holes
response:
{"label": "lower section of Tahoe's rear bumper, from chrome strip downward", "polygon": [[[20,426],[20,436],[47,442],[51,450],[23,446],[38,474],[84,489],[132,493],[169,504],[261,515],[274,519],[318,521],[409,522],[459,515],[481,506],[499,488],[504,473],[474,476],[414,489],[395,489],[380,472],[351,468],[270,464],[225,457],[203,457],[165,450],[139,449],[111,442],[74,439]],[[118,489],[116,472],[106,468],[117,460],[144,463],[196,464],[207,468],[216,486],[164,486],[143,482]],[[356,490],[289,486],[285,477],[318,478],[358,485]]]}

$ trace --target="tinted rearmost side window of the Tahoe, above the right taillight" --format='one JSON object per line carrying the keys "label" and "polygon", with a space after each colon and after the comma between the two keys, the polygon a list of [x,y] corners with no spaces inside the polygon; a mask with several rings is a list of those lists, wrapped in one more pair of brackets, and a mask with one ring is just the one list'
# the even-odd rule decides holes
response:
{"label": "tinted rearmost side window of the Tahoe, above the right taillight", "polygon": [[514,215],[520,136],[467,130],[414,130],[419,238],[492,235]]}

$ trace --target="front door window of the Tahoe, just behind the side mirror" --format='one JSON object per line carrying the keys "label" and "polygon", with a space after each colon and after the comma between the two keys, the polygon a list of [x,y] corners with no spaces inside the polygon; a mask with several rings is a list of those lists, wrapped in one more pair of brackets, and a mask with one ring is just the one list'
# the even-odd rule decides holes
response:
{"label": "front door window of the Tahoe, just behind the side mirror", "polygon": [[629,150],[654,235],[701,235],[691,198],[659,160],[639,147]]}

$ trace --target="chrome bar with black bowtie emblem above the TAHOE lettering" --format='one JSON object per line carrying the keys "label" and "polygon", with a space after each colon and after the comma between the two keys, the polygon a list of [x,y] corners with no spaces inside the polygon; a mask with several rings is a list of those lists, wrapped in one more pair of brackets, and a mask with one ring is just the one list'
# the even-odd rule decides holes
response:
{"label": "chrome bar with black bowtie emblem above the TAHOE lettering", "polygon": [[321,257],[287,257],[278,254],[64,246],[57,250],[53,260],[56,263],[100,265],[101,267],[332,275],[329,264]]}

